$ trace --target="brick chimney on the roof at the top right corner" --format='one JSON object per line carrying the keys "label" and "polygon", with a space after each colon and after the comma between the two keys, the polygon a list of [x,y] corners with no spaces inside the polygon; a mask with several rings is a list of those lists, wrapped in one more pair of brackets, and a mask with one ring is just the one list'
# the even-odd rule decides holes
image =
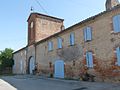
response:
{"label": "brick chimney on the roof at the top right corner", "polygon": [[119,4],[119,0],[106,0],[106,10],[110,10]]}

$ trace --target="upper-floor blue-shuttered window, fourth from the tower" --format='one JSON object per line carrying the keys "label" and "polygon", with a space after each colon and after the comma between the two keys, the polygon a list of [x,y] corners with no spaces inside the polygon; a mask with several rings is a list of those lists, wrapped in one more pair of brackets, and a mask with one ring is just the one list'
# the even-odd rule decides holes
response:
{"label": "upper-floor blue-shuttered window, fourth from the tower", "polygon": [[92,40],[92,28],[86,27],[84,29],[84,40],[85,41],[91,41]]}

